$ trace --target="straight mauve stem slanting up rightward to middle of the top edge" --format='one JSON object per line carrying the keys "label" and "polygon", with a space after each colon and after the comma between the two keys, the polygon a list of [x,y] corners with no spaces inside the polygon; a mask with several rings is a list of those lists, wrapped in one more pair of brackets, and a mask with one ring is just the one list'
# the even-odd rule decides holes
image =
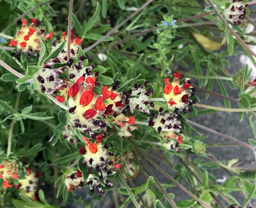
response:
{"label": "straight mauve stem slanting up rightward to middle of the top edge", "polygon": [[132,17],[134,17],[135,15],[137,15],[137,13],[139,13],[142,9],[144,9],[145,6],[148,6],[148,4],[150,4],[153,0],[148,0],[147,2],[145,2],[145,4],[143,4],[139,9],[137,9],[134,13],[132,13],[131,15],[129,15],[125,20],[123,20],[120,24],[118,24],[117,26],[115,26],[111,31],[109,31],[106,35],[104,35],[101,39],[99,39],[98,41],[96,41],[95,43],[93,43],[91,46],[89,46],[88,48],[84,49],[84,52],[87,52],[88,50],[91,50],[92,48],[94,48],[96,45],[99,45],[106,37],[109,37],[110,35],[112,35],[116,30],[118,30],[121,26],[123,26],[126,22],[128,22]]}

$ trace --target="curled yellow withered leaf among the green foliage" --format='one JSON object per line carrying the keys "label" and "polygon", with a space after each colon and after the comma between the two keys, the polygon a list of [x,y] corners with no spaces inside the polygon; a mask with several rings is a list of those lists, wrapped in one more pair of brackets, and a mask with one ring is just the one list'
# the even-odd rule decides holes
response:
{"label": "curled yellow withered leaf among the green foliage", "polygon": [[195,41],[199,45],[201,45],[203,48],[206,48],[208,50],[219,50],[219,48],[226,44],[226,37],[223,38],[223,40],[220,42],[213,41],[209,39],[208,37],[205,37],[204,35],[196,34],[195,32],[189,31],[189,33],[194,37]]}

